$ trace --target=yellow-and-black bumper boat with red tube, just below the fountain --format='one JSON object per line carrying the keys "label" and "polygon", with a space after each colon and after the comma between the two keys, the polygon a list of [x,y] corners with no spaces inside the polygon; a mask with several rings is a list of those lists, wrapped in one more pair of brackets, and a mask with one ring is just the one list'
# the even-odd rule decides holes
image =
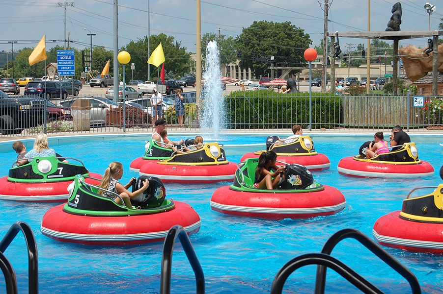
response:
{"label": "yellow-and-black bumper boat with red tube, just below the fountain", "polygon": [[224,149],[218,143],[189,146],[199,149],[172,153],[171,157],[149,161],[139,170],[140,175],[155,176],[165,183],[214,183],[232,181],[237,164],[226,160]]}

